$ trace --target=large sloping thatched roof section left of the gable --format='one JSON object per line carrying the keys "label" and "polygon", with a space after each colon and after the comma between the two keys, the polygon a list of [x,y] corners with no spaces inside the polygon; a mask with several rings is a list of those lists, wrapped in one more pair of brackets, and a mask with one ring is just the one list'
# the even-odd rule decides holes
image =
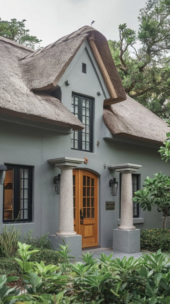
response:
{"label": "large sloping thatched roof section left of the gable", "polygon": [[30,54],[35,51],[0,37],[0,113],[83,129],[82,123],[58,99],[33,93],[26,86],[18,59]]}

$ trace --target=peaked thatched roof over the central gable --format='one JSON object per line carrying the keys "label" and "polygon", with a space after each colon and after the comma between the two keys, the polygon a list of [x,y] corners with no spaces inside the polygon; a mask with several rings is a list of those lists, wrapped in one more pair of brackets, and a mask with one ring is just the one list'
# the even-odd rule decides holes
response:
{"label": "peaked thatched roof over the central gable", "polygon": [[20,60],[22,77],[31,90],[52,89],[57,83],[83,41],[94,36],[95,45],[106,67],[117,94],[116,102],[125,100],[125,91],[115,67],[106,38],[90,26],[84,26],[43,49]]}

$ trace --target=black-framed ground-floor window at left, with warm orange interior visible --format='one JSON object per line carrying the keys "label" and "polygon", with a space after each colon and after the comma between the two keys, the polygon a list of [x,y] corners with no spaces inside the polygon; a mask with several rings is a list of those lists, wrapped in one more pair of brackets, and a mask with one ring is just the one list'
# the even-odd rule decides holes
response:
{"label": "black-framed ground-floor window at left, with warm orange interior visible", "polygon": [[5,164],[3,223],[32,221],[32,167]]}

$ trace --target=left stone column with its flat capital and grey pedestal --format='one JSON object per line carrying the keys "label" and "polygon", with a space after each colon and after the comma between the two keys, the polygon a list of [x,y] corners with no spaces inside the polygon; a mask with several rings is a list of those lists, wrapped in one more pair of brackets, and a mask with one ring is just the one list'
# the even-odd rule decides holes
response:
{"label": "left stone column with its flat capital and grey pedestal", "polygon": [[[74,231],[74,208],[73,208],[73,169],[84,162],[84,159],[61,157],[49,159],[50,164],[54,164],[61,169],[60,198],[59,198],[59,225],[56,234],[49,235],[51,246],[57,250],[62,244],[68,244],[71,254],[74,257],[82,254],[82,236]],[[61,238],[62,237],[62,238]]]}

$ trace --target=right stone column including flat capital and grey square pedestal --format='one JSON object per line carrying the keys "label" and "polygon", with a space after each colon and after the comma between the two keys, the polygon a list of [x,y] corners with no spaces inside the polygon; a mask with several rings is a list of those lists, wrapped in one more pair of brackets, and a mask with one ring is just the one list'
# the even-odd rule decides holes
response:
{"label": "right stone column including flat capital and grey square pedestal", "polygon": [[132,173],[141,165],[119,164],[108,168],[122,173],[120,226],[113,229],[113,250],[122,253],[139,252],[140,230],[133,226]]}

